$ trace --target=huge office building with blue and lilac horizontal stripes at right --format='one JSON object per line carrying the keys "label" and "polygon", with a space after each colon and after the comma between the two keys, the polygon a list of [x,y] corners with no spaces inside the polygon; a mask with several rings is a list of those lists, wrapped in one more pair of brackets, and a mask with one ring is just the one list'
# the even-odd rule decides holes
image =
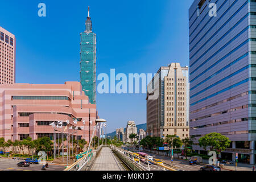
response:
{"label": "huge office building with blue and lilac horizontal stripes at right", "polygon": [[[217,14],[209,13],[216,3]],[[220,133],[222,158],[255,163],[256,2],[195,0],[189,9],[190,134]],[[203,151],[195,145],[193,149]]]}

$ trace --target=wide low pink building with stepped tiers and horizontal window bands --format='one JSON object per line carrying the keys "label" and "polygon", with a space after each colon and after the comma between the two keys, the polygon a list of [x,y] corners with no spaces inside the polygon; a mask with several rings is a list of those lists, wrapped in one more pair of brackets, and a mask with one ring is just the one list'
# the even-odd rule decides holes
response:
{"label": "wide low pink building with stepped tiers and horizontal window bands", "polygon": [[[89,141],[89,128],[92,135],[97,117],[96,105],[89,103],[80,82],[0,85],[0,110],[0,137],[13,141],[28,136],[33,140],[40,137],[53,140],[56,131],[49,124],[57,121],[69,121],[57,130],[67,134],[77,131],[73,135]],[[81,126],[84,129],[75,130]]]}

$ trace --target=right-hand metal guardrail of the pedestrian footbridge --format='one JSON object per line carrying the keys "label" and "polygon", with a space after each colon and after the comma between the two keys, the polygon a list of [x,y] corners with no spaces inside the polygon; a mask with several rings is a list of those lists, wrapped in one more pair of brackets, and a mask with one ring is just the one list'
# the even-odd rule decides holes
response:
{"label": "right-hand metal guardrail of the pedestrian footbridge", "polygon": [[[119,154],[125,156],[125,158],[127,160],[129,160],[129,162],[132,162],[134,165],[143,169],[143,171],[151,171],[150,163],[155,164],[154,167],[157,167],[157,168],[159,168],[160,170],[163,170],[163,171],[177,171],[176,169],[164,166],[163,164],[159,164],[159,163],[156,163],[152,160],[143,158],[142,156],[134,155],[133,152],[124,150],[122,148],[115,147],[113,145],[110,145],[110,148],[112,148],[112,150],[118,152]],[[138,162],[135,162],[136,159],[137,159]],[[142,163],[141,163],[142,160],[147,163],[147,167],[142,165]]]}

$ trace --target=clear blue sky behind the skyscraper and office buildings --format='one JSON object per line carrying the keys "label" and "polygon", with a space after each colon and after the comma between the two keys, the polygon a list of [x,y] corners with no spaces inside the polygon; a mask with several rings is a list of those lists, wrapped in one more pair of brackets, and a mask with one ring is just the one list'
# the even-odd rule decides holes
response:
{"label": "clear blue sky behind the skyscraper and office buildings", "polygon": [[[38,16],[46,3],[47,16]],[[87,9],[97,34],[97,75],[155,73],[189,63],[188,9],[193,0],[14,0],[0,6],[0,26],[16,36],[16,82],[64,84],[80,80],[80,32]],[[127,121],[146,123],[146,94],[97,94],[108,132]]]}

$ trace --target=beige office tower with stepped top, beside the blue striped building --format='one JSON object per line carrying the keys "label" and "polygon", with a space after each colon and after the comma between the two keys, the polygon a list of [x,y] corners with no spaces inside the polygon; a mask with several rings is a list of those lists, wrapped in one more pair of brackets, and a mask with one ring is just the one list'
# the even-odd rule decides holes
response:
{"label": "beige office tower with stepped top, beside the blue striped building", "polygon": [[[147,135],[165,138],[177,135],[189,137],[189,84],[188,67],[172,63],[157,72],[159,88],[156,100],[147,94]],[[154,79],[152,79],[154,80]],[[151,81],[152,82],[152,81]]]}

